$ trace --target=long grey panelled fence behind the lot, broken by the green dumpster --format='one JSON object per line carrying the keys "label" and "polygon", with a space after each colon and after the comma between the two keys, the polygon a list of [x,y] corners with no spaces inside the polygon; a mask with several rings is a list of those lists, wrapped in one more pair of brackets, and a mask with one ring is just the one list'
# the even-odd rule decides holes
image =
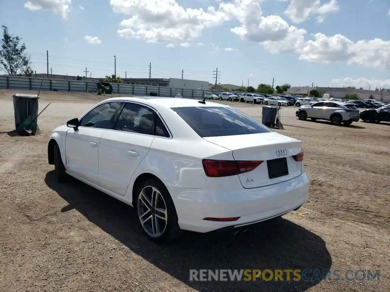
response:
{"label": "long grey panelled fence behind the lot, broken by the green dumpster", "polygon": [[[96,82],[77,81],[77,80],[61,80],[61,79],[42,79],[30,78],[21,76],[0,76],[0,89],[12,90],[39,90],[42,83],[42,91],[72,91],[72,92],[96,92]],[[181,79],[180,79],[181,80]],[[180,93],[185,98],[202,99],[205,91],[208,90],[208,82],[205,90],[192,90],[186,88],[169,88],[159,86],[145,86],[125,83],[113,83],[113,94],[128,94],[145,96],[151,92],[156,93],[161,97],[174,97]]]}

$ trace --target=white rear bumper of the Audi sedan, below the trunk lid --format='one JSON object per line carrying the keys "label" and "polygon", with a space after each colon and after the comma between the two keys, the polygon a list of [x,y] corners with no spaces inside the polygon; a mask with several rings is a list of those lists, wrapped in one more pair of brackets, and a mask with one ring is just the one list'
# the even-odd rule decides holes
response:
{"label": "white rear bumper of the Audi sedan, below the trunk lid", "polygon": [[[233,178],[230,178],[233,180]],[[238,178],[234,178],[238,179]],[[238,184],[239,181],[237,181]],[[310,180],[300,176],[274,185],[230,190],[227,186],[211,189],[168,188],[174,201],[181,229],[195,232],[239,228],[282,216],[299,208],[308,200]],[[219,222],[204,218],[232,218]]]}

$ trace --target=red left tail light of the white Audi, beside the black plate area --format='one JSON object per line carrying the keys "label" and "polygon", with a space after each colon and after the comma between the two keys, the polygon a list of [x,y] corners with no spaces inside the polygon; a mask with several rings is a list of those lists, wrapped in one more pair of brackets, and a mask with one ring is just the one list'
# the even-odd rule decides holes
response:
{"label": "red left tail light of the white Audi, beside the black plate area", "polygon": [[235,160],[202,160],[206,176],[219,178],[253,171],[262,164],[262,161],[235,161]]}

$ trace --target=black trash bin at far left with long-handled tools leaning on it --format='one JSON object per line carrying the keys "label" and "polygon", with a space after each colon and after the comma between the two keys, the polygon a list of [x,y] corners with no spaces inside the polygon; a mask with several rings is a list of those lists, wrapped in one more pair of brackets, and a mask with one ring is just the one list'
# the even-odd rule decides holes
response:
{"label": "black trash bin at far left with long-handled tools leaning on it", "polygon": [[20,131],[27,127],[33,134],[37,132],[38,95],[16,93],[14,100],[15,128]]}

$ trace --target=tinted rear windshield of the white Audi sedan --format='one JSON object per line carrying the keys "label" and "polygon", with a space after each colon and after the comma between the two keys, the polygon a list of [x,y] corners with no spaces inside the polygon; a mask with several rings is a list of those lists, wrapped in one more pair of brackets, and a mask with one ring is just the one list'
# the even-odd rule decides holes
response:
{"label": "tinted rear windshield of the white Audi sedan", "polygon": [[172,110],[200,137],[272,132],[259,121],[232,107],[174,107]]}

